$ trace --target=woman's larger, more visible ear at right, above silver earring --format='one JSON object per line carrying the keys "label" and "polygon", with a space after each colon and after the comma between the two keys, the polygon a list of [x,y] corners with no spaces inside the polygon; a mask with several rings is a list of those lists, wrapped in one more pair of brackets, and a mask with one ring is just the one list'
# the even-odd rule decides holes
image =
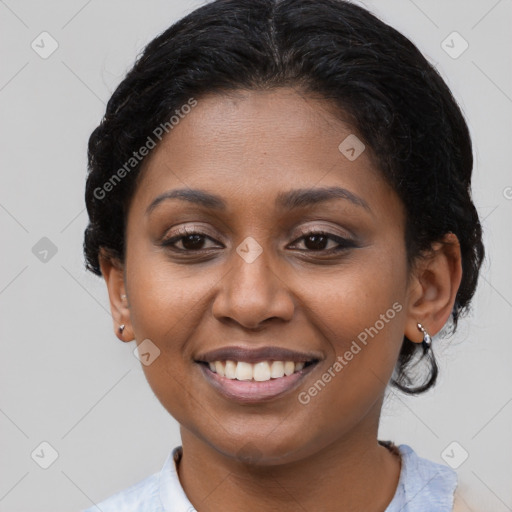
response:
{"label": "woman's larger, more visible ear at right, above silver earring", "polygon": [[416,264],[408,287],[405,336],[415,343],[423,341],[422,324],[433,336],[448,321],[462,279],[460,244],[453,233],[432,245]]}

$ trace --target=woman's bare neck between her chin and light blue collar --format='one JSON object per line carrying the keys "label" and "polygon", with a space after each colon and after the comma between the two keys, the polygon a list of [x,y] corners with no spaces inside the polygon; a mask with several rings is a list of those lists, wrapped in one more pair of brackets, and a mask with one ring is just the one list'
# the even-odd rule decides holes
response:
{"label": "woman's bare neck between her chin and light blue collar", "polygon": [[399,457],[378,444],[376,432],[357,432],[282,465],[245,464],[183,428],[181,434],[179,477],[199,512],[381,512],[398,485]]}

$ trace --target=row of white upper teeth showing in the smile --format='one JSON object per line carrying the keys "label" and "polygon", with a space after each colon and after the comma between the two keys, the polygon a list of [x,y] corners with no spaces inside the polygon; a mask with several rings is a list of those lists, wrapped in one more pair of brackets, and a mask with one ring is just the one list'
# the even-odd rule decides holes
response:
{"label": "row of white upper teeth showing in the smile", "polygon": [[244,361],[215,361],[208,363],[210,370],[231,380],[254,380],[265,382],[292,375],[304,368],[304,363],[293,361],[261,361],[251,364]]}

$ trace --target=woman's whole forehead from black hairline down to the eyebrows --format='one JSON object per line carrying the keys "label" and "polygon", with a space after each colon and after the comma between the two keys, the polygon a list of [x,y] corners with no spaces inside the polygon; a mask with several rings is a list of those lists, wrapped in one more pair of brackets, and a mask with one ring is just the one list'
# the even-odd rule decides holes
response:
{"label": "woman's whole forehead from black hairline down to the eyebrows", "polygon": [[355,160],[340,151],[355,136],[329,101],[291,88],[200,97],[147,158],[137,202],[147,207],[176,188],[208,190],[244,208],[277,204],[291,188],[378,195],[385,184],[369,151]]}

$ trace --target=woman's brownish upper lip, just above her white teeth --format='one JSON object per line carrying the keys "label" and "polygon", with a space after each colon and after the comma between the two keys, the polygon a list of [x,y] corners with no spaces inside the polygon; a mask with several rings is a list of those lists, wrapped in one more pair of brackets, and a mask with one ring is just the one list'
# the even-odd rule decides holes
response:
{"label": "woman's brownish upper lip, just above her white teeth", "polygon": [[201,354],[197,362],[212,363],[214,361],[243,361],[258,363],[260,361],[293,361],[306,363],[317,361],[321,355],[316,352],[297,352],[281,347],[246,348],[242,346],[221,347]]}

